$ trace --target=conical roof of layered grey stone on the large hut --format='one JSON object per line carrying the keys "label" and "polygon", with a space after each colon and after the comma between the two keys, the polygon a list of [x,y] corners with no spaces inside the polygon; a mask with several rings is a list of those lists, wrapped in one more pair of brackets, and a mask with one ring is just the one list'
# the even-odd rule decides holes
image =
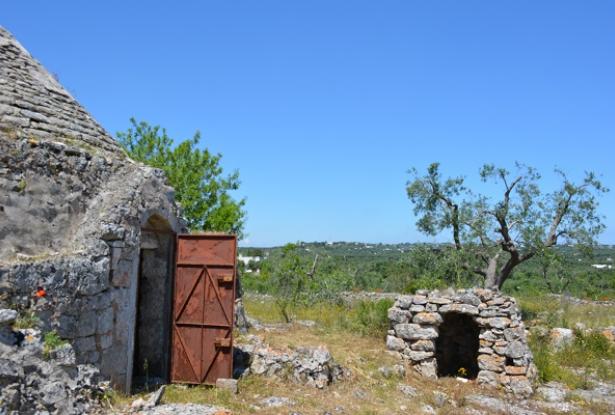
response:
{"label": "conical roof of layered grey stone on the large hut", "polygon": [[120,151],[94,118],[2,27],[0,135],[69,141],[77,146]]}

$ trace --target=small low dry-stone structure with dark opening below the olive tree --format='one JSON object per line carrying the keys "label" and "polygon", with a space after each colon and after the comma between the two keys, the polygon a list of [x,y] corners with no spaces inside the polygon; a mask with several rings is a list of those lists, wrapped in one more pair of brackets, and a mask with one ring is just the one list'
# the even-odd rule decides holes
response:
{"label": "small low dry-stone structure with dark opening below the olive tree", "polygon": [[536,368],[514,298],[484,289],[418,291],[399,296],[388,317],[387,348],[424,376],[532,393]]}

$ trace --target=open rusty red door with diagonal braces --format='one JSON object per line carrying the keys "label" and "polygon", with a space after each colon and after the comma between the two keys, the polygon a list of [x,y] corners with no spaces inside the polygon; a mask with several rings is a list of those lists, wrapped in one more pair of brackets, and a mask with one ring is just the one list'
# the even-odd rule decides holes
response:
{"label": "open rusty red door with diagonal braces", "polygon": [[178,235],[171,382],[232,377],[236,258],[235,236]]}

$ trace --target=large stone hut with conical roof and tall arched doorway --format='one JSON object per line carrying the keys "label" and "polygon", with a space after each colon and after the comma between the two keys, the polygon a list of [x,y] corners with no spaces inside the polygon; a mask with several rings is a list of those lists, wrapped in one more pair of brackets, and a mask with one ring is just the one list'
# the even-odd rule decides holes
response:
{"label": "large stone hut with conical roof and tall arched doorway", "polygon": [[165,381],[179,232],[164,174],[0,27],[0,308],[33,310],[120,389]]}

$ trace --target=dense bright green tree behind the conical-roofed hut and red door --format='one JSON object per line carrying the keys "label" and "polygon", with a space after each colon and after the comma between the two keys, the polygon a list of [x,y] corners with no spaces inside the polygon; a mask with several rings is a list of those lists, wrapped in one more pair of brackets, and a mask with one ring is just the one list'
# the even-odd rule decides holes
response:
{"label": "dense bright green tree behind the conical-roofed hut and red door", "polygon": [[130,123],[125,132],[117,133],[119,143],[133,160],[165,172],[189,228],[242,237],[245,199],[235,200],[230,195],[239,188],[239,173],[223,175],[222,155],[199,149],[198,131],[192,139],[175,145],[164,128],[134,118]]}

